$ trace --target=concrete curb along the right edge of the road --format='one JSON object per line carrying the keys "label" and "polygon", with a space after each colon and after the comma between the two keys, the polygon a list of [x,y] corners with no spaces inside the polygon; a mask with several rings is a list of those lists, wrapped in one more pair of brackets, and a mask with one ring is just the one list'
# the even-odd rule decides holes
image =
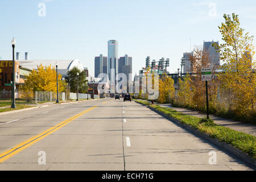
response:
{"label": "concrete curb along the right edge of the road", "polygon": [[[135,101],[136,102],[136,101]],[[137,102],[138,104],[141,104],[139,102]],[[145,104],[141,104],[143,106],[147,106]],[[170,115],[164,114],[159,110],[156,110],[150,106],[147,106],[147,108],[151,109],[152,111],[155,111],[156,113],[162,115],[163,117],[169,119],[170,121],[176,123],[177,125],[179,125],[180,127],[183,127],[189,131],[191,131],[192,134],[195,134],[197,137],[203,138],[205,140],[207,140],[208,142],[214,144],[215,146],[221,148],[222,150],[228,152],[229,154],[231,154],[232,156],[234,156],[235,158],[238,158],[240,160],[242,160],[243,162],[245,162],[249,167],[253,168],[254,170],[256,170],[256,160],[249,156],[246,155],[245,152],[239,150],[236,147],[233,147],[232,145],[226,143],[226,142],[220,142],[220,140],[218,140],[217,138],[211,138],[208,134],[206,133],[201,133],[199,130],[193,128],[192,126],[186,125],[184,123],[181,123],[179,120],[170,117]]]}

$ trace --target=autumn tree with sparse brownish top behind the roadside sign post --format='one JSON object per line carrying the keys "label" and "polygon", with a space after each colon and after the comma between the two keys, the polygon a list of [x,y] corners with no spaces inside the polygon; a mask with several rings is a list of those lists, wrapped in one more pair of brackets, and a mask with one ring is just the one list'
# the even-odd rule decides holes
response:
{"label": "autumn tree with sparse brownish top behind the roadside sign post", "polygon": [[[184,78],[179,78],[178,98],[174,104],[193,109],[206,109],[205,81],[201,81],[201,69],[209,67],[210,59],[207,51],[196,47],[193,55],[189,57],[191,61],[191,72],[187,73]],[[215,72],[216,67],[212,67],[212,72]],[[214,108],[217,96],[217,84],[215,80],[208,81],[209,106]]]}

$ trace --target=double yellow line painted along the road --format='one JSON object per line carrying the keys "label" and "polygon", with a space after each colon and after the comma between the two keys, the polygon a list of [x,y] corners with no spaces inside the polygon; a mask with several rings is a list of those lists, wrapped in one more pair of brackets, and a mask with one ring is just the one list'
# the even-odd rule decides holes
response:
{"label": "double yellow line painted along the road", "polygon": [[[105,103],[105,102],[104,102]],[[57,124],[56,126],[51,127],[50,129],[44,131],[43,133],[40,133],[39,135],[36,135],[30,139],[25,140],[22,143],[19,143],[15,147],[11,148],[10,150],[7,150],[0,154],[0,163],[4,162],[5,160],[11,158],[11,156],[14,156],[15,154],[18,154],[20,151],[24,150],[25,148],[31,146],[32,144],[38,142],[39,140],[43,139],[44,137],[47,137],[49,134],[53,133],[54,131],[59,130],[61,127],[67,125],[69,122],[73,121],[76,118],[81,117],[82,115],[88,113],[90,110],[95,109],[97,106],[90,107],[89,109],[82,111],[81,113]]]}

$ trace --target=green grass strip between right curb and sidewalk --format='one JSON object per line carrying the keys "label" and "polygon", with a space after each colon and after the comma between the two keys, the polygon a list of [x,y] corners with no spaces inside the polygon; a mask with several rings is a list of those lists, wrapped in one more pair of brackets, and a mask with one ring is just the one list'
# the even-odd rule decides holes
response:
{"label": "green grass strip between right curb and sidewalk", "polygon": [[201,118],[183,114],[168,107],[151,105],[149,102],[139,100],[135,102],[147,105],[164,114],[167,114],[170,117],[179,120],[181,123],[192,126],[193,128],[199,130],[201,133],[207,133],[210,137],[217,138],[220,140],[220,142],[231,144],[232,146],[240,149],[247,155],[250,155],[256,159],[256,137],[253,135],[232,130],[224,126],[216,125],[214,123],[200,123]]}

